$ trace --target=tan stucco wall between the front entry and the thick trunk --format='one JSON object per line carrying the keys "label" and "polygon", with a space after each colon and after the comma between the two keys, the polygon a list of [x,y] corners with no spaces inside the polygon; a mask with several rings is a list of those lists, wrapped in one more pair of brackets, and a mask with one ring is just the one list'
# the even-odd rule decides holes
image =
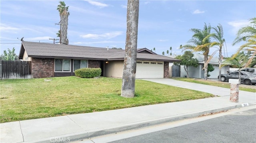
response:
{"label": "tan stucco wall between the front entry and the thick trunk", "polygon": [[123,69],[124,61],[108,61],[105,67],[105,76],[122,78]]}

